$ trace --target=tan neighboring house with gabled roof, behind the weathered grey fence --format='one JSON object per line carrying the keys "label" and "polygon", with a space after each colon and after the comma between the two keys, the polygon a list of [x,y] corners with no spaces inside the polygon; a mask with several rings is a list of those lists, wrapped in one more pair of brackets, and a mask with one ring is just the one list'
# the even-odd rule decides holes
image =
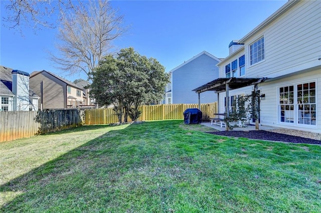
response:
{"label": "tan neighboring house with gabled roof, behind the weathered grey fence", "polygon": [[34,71],[30,87],[40,95],[40,108],[76,108],[84,104],[83,88],[49,71]]}

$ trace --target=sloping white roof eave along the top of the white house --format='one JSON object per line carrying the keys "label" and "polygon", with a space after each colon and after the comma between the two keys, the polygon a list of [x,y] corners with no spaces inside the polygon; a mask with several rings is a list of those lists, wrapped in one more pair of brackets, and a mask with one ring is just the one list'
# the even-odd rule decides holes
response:
{"label": "sloping white roof eave along the top of the white house", "polygon": [[271,21],[273,21],[275,18],[277,18],[279,15],[287,11],[292,5],[299,2],[299,0],[288,0],[283,6],[281,6],[278,10],[276,10],[273,14],[271,14],[269,17],[267,17],[263,22],[261,22],[258,26],[256,26],[254,29],[252,29],[249,33],[247,33],[244,37],[242,37],[238,42],[244,43],[250,36],[252,36],[254,33],[265,27],[267,24],[269,24]]}

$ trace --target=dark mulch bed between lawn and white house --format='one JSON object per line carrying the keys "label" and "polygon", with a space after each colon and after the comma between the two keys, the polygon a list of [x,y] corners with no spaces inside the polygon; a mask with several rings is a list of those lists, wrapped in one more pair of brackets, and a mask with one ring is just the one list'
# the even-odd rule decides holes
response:
{"label": "dark mulch bed between lawn and white house", "polygon": [[288,135],[288,134],[281,134],[281,133],[264,131],[264,130],[213,131],[213,132],[207,132],[207,133],[223,135],[223,136],[231,136],[231,137],[245,137],[245,138],[260,139],[260,140],[321,144],[321,140],[315,140],[315,139],[310,139],[310,138],[305,138],[305,137],[293,136],[293,135]]}

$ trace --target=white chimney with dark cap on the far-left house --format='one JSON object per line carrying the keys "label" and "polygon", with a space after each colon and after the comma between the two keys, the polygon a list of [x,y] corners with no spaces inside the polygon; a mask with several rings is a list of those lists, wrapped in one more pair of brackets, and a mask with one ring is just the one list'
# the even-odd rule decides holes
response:
{"label": "white chimney with dark cap on the far-left house", "polygon": [[29,111],[29,73],[12,70],[12,92],[15,94],[13,109]]}

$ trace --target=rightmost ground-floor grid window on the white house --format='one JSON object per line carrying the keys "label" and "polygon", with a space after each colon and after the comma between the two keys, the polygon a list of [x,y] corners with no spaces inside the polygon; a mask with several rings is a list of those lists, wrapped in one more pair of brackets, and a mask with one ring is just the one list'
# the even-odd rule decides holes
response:
{"label": "rightmost ground-floor grid window on the white house", "polygon": [[298,123],[315,125],[315,82],[297,84]]}

